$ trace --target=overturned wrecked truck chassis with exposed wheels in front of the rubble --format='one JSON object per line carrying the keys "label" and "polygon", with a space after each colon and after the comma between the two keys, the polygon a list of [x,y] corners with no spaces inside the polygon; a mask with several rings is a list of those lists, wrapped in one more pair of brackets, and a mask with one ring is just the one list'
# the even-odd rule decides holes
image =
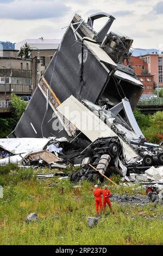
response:
{"label": "overturned wrecked truck chassis with exposed wheels in front of the rubble", "polygon": [[[127,168],[123,166],[124,156],[122,144],[118,137],[98,138],[87,149],[82,161],[80,172],[68,175],[71,181],[89,180],[91,182],[103,182],[101,174],[110,176],[119,173],[126,176]],[[98,172],[93,170],[89,164],[96,166]]]}

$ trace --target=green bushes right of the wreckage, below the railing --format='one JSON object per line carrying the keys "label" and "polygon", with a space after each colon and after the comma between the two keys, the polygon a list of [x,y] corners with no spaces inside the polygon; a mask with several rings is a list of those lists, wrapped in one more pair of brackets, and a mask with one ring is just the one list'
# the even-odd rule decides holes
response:
{"label": "green bushes right of the wreckage, below the railing", "polygon": [[134,109],[135,119],[147,141],[160,143],[163,140],[163,111],[145,115],[138,108]]}

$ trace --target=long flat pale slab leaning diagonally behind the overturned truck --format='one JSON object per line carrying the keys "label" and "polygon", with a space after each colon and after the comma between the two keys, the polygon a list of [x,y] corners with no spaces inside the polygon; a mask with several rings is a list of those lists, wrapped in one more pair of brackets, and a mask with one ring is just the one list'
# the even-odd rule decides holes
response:
{"label": "long flat pale slab leaning diagonally behind the overturned truck", "polygon": [[[82,131],[91,142],[94,142],[97,138],[117,136],[116,133],[104,123],[104,121],[99,119],[72,95],[57,109],[62,115],[70,120],[78,130]],[[88,121],[89,123],[87,123]],[[123,148],[127,156],[138,156],[126,142],[122,141],[121,138],[120,141],[123,144]]]}

